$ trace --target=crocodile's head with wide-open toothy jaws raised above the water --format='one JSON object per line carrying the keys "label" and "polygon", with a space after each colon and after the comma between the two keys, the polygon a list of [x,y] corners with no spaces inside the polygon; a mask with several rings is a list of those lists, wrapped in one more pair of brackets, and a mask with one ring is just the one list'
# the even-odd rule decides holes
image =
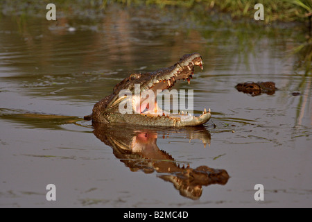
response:
{"label": "crocodile's head with wide-open toothy jaws raised above the water", "polygon": [[[177,80],[187,80],[191,82],[194,68],[198,66],[203,69],[202,57],[199,53],[191,53],[182,56],[175,65],[157,69],[144,74],[135,73],[123,79],[114,86],[112,94],[106,96],[94,105],[92,114],[85,116],[85,120],[92,120],[101,123],[130,123],[141,126],[198,126],[206,123],[211,118],[210,109],[204,109],[199,116],[184,113],[168,113],[157,105],[157,93],[170,89]],[[135,95],[136,85],[139,85],[139,92],[143,94],[152,90],[155,100],[136,99],[135,96],[123,94],[123,90],[128,90]],[[147,97],[147,96],[146,96]],[[123,103],[132,104],[132,113],[122,113],[119,106]],[[153,105],[150,105],[153,103]],[[153,108],[152,108],[153,107]]]}

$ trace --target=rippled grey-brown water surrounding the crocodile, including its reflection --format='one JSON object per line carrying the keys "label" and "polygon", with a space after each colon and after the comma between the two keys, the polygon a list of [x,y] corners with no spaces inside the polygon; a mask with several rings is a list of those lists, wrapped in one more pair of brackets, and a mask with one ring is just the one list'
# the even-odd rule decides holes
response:
{"label": "rippled grey-brown water surrounding the crocodile, including its reflection", "polygon": [[[311,207],[312,78],[288,56],[304,38],[297,28],[119,6],[57,22],[3,15],[0,206]],[[103,129],[81,119],[125,76],[191,52],[204,70],[175,88],[194,89],[196,112],[211,108],[216,128]],[[269,80],[272,95],[234,88]],[[50,183],[56,201],[46,200]]]}

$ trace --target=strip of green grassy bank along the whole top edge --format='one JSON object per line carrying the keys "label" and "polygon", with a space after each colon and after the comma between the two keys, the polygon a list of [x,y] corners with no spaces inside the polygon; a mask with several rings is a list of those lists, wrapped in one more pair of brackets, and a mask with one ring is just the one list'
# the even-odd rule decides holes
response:
{"label": "strip of green grassy bank along the whole top edge", "polygon": [[[48,0],[4,0],[0,2],[0,9],[3,13],[6,10],[12,12],[37,12],[38,10],[44,11],[45,8],[41,6],[50,3]],[[263,4],[264,19],[266,24],[274,21],[283,22],[311,22],[312,16],[312,1],[310,0],[80,0],[75,1],[73,4],[69,0],[55,0],[53,1],[56,6],[61,5],[64,12],[72,12],[73,8],[84,9],[87,13],[89,10],[99,12],[105,10],[105,8],[112,3],[121,3],[125,6],[130,5],[145,5],[145,6],[175,6],[180,8],[195,8],[200,6],[205,8],[207,12],[226,12],[233,18],[250,17],[254,16],[254,5],[257,3]],[[6,7],[4,7],[6,6]]]}

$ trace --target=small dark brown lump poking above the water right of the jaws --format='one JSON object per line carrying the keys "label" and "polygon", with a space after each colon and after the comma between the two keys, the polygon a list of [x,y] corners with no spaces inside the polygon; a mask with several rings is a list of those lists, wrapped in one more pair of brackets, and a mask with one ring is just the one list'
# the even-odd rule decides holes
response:
{"label": "small dark brown lump poking above the water right of the jaws", "polygon": [[266,93],[268,95],[272,95],[272,94],[275,94],[275,90],[277,90],[277,87],[275,87],[275,83],[273,83],[273,82],[239,83],[235,86],[235,88],[239,92],[250,94],[252,96],[259,96],[263,93]]}

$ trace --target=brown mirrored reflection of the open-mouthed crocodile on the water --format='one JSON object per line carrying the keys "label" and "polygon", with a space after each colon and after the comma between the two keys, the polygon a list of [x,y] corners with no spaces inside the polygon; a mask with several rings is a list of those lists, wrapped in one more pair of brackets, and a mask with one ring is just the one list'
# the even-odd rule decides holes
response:
{"label": "brown mirrored reflection of the open-mouthed crocodile on the water", "polygon": [[[153,128],[127,128],[127,126],[96,123],[94,135],[113,148],[114,155],[129,167],[131,171],[156,171],[159,178],[172,182],[182,196],[198,199],[202,195],[202,186],[211,184],[225,185],[229,179],[224,169],[212,169],[200,166],[196,169],[180,167],[171,155],[158,148],[157,132]],[[168,132],[168,131],[166,131]],[[210,143],[210,134],[205,127],[188,127],[170,131],[187,134],[190,139],[201,139]]]}

